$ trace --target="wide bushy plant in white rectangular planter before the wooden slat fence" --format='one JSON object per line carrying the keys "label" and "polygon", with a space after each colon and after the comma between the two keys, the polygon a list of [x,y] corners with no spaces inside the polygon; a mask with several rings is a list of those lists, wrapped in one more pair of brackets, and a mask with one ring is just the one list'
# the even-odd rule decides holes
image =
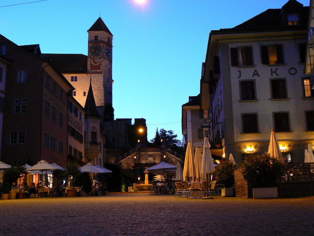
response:
{"label": "wide bushy plant in white rectangular planter before the wooden slat fence", "polygon": [[268,154],[250,155],[241,164],[247,185],[253,188],[253,198],[277,198],[277,182],[284,163]]}

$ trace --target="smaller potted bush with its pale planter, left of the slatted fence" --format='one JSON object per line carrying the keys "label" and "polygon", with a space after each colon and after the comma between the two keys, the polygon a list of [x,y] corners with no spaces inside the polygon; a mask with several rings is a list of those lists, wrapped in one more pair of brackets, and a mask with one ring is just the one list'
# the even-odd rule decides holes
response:
{"label": "smaller potted bush with its pale planter, left of the slatted fence", "polygon": [[237,169],[237,165],[233,161],[226,160],[220,162],[215,171],[215,177],[219,184],[221,184],[221,196],[233,197],[233,187],[235,185],[234,172]]}

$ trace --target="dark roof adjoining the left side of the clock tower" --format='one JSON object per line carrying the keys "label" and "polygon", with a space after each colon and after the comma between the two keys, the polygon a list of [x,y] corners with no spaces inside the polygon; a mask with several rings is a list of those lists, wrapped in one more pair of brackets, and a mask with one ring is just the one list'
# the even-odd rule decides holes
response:
{"label": "dark roof adjoining the left side of the clock tower", "polygon": [[61,73],[88,73],[84,54],[42,53],[41,57],[53,64]]}

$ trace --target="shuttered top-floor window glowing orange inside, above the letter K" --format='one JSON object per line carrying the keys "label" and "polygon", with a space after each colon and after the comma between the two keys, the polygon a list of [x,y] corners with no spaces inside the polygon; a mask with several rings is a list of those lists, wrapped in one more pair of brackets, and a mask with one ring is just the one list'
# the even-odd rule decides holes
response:
{"label": "shuttered top-floor window glowing orange inside, above the letter K", "polygon": [[280,44],[261,46],[262,64],[275,65],[284,63],[283,47]]}

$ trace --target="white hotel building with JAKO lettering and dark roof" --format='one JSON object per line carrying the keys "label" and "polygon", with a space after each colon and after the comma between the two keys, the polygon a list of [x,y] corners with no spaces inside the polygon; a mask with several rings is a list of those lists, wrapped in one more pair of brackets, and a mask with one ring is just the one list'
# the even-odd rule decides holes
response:
{"label": "white hotel building with JAKO lettering and dark roof", "polygon": [[290,0],[209,34],[201,108],[212,143],[238,163],[268,150],[271,129],[286,162],[304,162],[307,143],[314,145],[314,97],[304,74],[308,12]]}

